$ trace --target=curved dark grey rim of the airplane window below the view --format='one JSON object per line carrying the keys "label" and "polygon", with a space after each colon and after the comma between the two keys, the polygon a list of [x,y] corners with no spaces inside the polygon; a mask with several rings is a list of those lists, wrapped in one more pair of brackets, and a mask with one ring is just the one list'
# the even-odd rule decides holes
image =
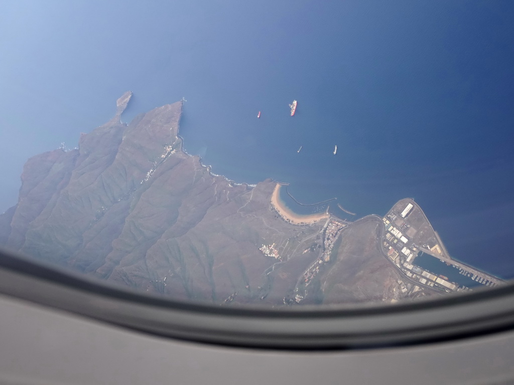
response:
{"label": "curved dark grey rim of the airplane window below the view", "polygon": [[0,294],[161,337],[258,349],[375,349],[514,329],[514,283],[387,305],[237,308],[145,295],[4,251]]}

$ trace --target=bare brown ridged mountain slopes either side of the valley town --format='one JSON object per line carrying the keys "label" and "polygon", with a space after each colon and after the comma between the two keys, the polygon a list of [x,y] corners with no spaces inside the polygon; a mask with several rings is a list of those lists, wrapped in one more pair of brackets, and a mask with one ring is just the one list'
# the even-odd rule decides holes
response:
{"label": "bare brown ridged mountain slopes either side of the valley town", "polygon": [[[177,299],[291,304],[320,258],[326,217],[288,223],[271,205],[276,183],[234,183],[182,151],[182,102],[121,123],[131,95],[118,99],[111,121],[82,134],[78,149],[29,159],[19,202],[0,216],[0,244]],[[323,267],[306,303],[398,298],[377,226],[362,220],[342,231],[337,261]]]}

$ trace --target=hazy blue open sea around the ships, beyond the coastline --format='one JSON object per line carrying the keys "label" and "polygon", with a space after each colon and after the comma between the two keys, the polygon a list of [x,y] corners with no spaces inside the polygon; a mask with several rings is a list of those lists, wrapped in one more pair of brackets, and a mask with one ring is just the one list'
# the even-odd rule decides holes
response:
{"label": "hazy blue open sea around the ships, beyond the coastline", "polygon": [[124,121],[185,97],[185,149],[216,174],[337,198],[348,218],[414,198],[452,257],[514,277],[512,16],[509,1],[8,2],[0,202],[124,91]]}

